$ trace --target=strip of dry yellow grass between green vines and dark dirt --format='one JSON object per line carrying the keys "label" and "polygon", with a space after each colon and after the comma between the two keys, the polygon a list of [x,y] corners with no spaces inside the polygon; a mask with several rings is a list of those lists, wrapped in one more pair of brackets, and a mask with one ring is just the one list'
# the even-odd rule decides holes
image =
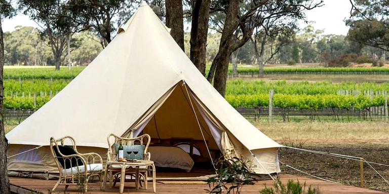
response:
{"label": "strip of dry yellow grass between green vines and dark dirt", "polygon": [[387,144],[388,122],[255,122],[258,129],[281,144]]}

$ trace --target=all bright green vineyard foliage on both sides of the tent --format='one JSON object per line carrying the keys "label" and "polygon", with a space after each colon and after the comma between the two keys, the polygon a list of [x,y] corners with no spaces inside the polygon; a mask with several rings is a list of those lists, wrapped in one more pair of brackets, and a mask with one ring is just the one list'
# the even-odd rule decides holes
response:
{"label": "all bright green vineyard foliage on both sides of the tent", "polygon": [[[84,67],[72,68],[70,71],[62,69],[55,71],[54,68],[6,68],[5,69],[5,104],[7,108],[15,109],[36,109],[41,107],[62,90],[73,77],[83,70]],[[348,72],[358,68],[310,68],[327,70],[328,73]],[[361,68],[366,71],[372,68]],[[386,68],[377,68],[386,69]],[[242,69],[241,69],[242,70]],[[256,69],[255,69],[256,70]],[[276,69],[275,69],[276,70]],[[299,68],[284,69],[285,71],[296,73]],[[308,68],[301,71],[307,71]],[[388,69],[386,69],[388,70]],[[360,72],[357,71],[357,72]],[[321,73],[321,71],[314,71]],[[353,71],[351,71],[353,72]],[[385,72],[385,71],[383,71]],[[52,79],[51,79],[52,78]],[[233,107],[261,107],[268,106],[268,91],[274,90],[273,105],[281,108],[312,109],[320,108],[357,108],[366,109],[371,106],[381,106],[384,104],[384,98],[380,95],[374,95],[372,99],[362,93],[364,91],[388,91],[388,83],[330,83],[330,82],[264,82],[264,81],[228,81],[226,87],[225,99]],[[349,91],[354,95],[341,95],[339,91]],[[36,95],[36,105],[34,105],[33,96]],[[42,98],[41,98],[42,95]],[[24,96],[24,98],[22,97]]]}

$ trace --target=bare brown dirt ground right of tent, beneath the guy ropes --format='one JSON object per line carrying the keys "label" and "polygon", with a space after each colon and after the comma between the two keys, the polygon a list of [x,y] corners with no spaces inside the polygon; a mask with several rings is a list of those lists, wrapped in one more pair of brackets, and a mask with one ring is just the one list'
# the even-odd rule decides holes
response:
{"label": "bare brown dirt ground right of tent, beneath the guy ropes", "polygon": [[[389,192],[389,146],[384,144],[337,144],[303,145],[302,149],[337,153],[346,156],[362,157],[368,162],[363,165],[364,187]],[[281,148],[279,152],[282,173],[308,176],[303,172],[345,185],[360,186],[360,161],[328,156],[291,148]],[[375,170],[374,170],[374,169]],[[383,177],[381,177],[381,176]],[[308,176],[309,177],[309,176]]]}

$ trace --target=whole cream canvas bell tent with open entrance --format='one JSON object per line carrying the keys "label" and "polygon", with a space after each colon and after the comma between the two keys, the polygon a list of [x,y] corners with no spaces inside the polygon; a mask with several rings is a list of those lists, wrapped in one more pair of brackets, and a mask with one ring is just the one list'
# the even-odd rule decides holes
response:
{"label": "whole cream canvas bell tent with open entrance", "polygon": [[222,152],[235,149],[259,174],[280,172],[282,145],[219,95],[144,2],[88,67],[6,135],[8,156],[19,153],[8,159],[8,170],[55,173],[50,137],[70,135],[81,151],[104,157],[109,133],[136,136],[142,130],[155,138],[204,138]]}

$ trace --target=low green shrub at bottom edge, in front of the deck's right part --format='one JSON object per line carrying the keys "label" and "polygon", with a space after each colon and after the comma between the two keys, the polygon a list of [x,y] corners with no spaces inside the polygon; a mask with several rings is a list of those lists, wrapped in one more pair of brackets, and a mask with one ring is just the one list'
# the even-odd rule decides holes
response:
{"label": "low green shrub at bottom edge, in front of the deck's right part", "polygon": [[282,184],[280,179],[277,179],[277,181],[274,183],[274,188],[266,187],[260,190],[261,194],[315,194],[319,193],[319,190],[317,188],[312,188],[310,185],[308,187],[308,190],[305,191],[305,183],[303,185],[300,185],[300,182],[294,182],[293,180],[288,180],[287,185],[285,186]]}

